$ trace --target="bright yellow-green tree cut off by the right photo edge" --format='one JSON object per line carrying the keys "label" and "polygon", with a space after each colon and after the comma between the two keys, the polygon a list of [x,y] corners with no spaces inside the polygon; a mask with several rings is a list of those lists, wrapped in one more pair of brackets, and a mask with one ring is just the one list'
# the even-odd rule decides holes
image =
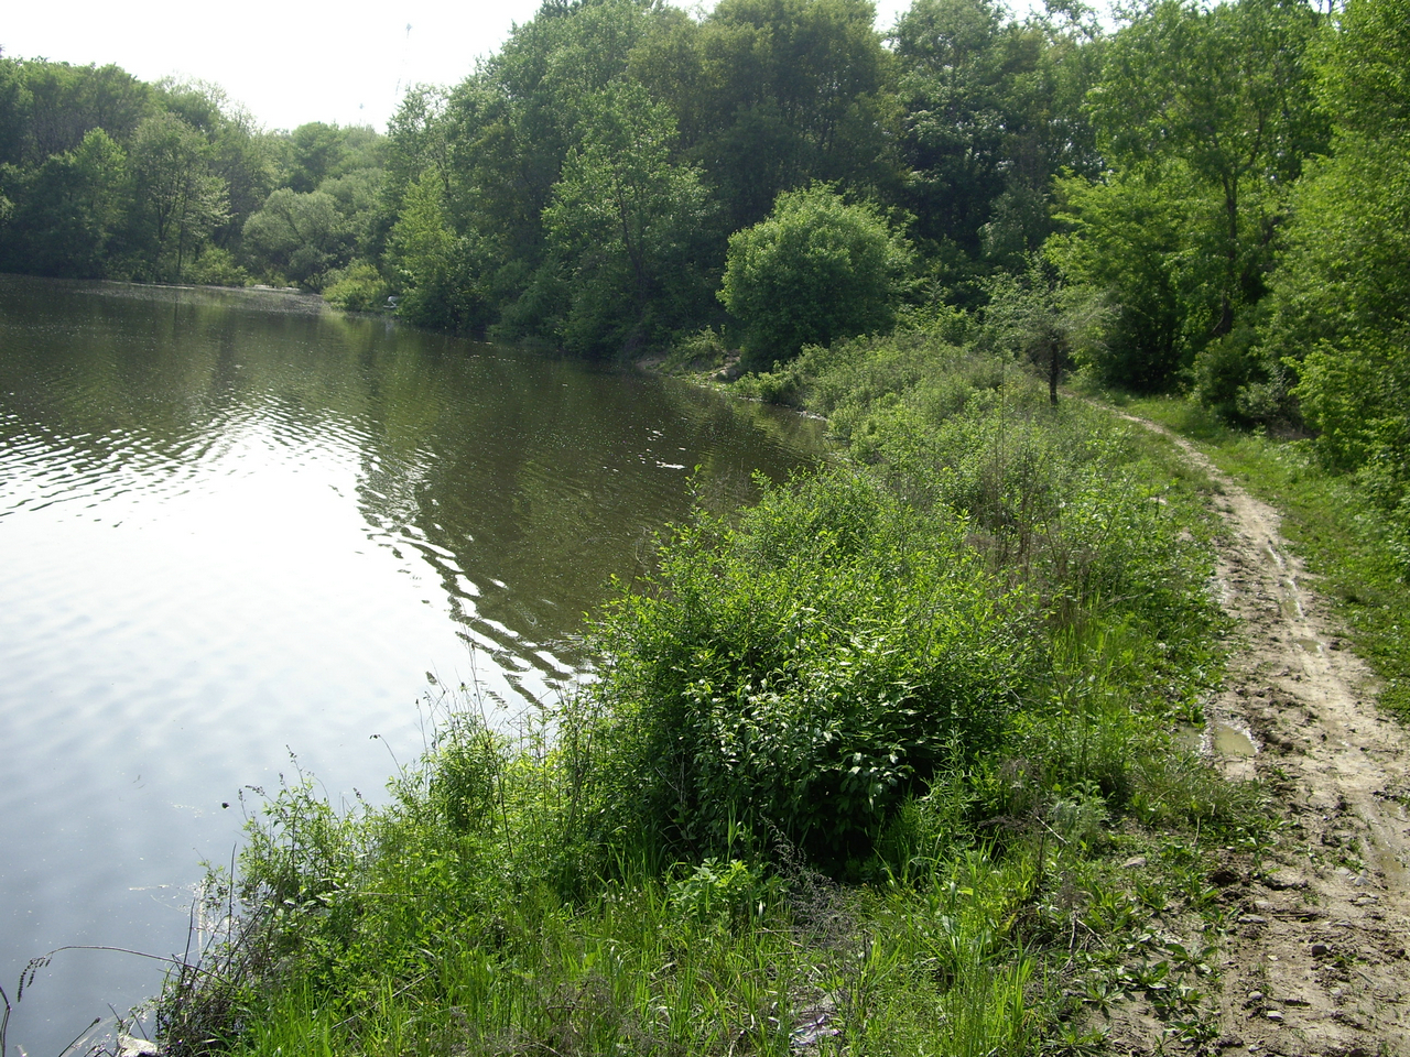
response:
{"label": "bright yellow-green tree cut off by the right photo edge", "polygon": [[1410,567],[1410,0],[1351,0],[1321,59],[1334,149],[1293,199],[1265,340],[1323,458],[1396,512]]}

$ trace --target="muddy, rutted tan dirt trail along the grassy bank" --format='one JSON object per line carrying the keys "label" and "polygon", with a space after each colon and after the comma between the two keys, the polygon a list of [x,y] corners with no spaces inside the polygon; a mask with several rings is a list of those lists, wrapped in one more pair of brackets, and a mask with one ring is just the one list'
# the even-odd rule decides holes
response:
{"label": "muddy, rutted tan dirt trail along the grassy bank", "polygon": [[1206,747],[1286,822],[1259,871],[1215,875],[1235,922],[1217,1049],[1410,1057],[1410,733],[1378,715],[1277,512],[1166,435],[1218,485],[1230,530],[1218,578],[1241,627]]}

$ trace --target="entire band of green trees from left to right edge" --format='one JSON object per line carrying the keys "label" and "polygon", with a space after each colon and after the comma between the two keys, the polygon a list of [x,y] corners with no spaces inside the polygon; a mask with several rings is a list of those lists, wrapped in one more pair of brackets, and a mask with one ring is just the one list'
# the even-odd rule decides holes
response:
{"label": "entire band of green trees from left to right edge", "polygon": [[0,268],[293,282],[587,355],[768,366],[983,320],[1410,471],[1410,0],[547,0],[386,137],[0,61]]}

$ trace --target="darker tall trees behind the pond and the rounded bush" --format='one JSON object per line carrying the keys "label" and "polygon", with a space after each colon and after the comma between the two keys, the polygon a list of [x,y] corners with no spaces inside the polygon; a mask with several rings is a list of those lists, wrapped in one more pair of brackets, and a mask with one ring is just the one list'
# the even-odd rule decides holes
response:
{"label": "darker tall trees behind the pond and the rounded bush", "polygon": [[822,182],[905,233],[911,300],[971,303],[1052,230],[1053,176],[1100,172],[1097,38],[984,0],[921,0],[890,44],[864,0],[550,0],[385,140],[4,59],[3,266],[324,289],[361,265],[420,323],[612,354],[725,324],[730,234]]}

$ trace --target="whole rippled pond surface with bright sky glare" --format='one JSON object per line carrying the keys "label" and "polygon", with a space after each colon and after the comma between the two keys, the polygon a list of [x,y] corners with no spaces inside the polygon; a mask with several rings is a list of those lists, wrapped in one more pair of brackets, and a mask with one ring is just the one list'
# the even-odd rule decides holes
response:
{"label": "whole rippled pond surface with bright sky glare", "polygon": [[[292,753],[375,798],[423,746],[427,674],[503,716],[551,699],[692,468],[725,503],[819,445],[309,299],[0,276],[0,987],[65,944],[180,951],[243,786]],[[159,979],[61,953],[8,1041],[56,1057]]]}

